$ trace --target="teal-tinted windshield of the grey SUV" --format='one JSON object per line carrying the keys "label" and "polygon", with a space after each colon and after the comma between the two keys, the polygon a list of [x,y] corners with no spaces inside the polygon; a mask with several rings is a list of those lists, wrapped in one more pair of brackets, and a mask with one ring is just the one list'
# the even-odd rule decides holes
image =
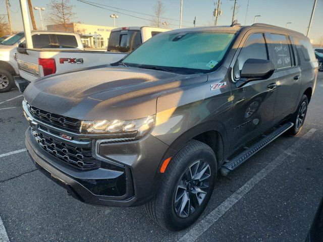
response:
{"label": "teal-tinted windshield of the grey SUV", "polygon": [[234,33],[191,32],[162,33],[129,54],[123,64],[164,71],[207,73],[220,63]]}

